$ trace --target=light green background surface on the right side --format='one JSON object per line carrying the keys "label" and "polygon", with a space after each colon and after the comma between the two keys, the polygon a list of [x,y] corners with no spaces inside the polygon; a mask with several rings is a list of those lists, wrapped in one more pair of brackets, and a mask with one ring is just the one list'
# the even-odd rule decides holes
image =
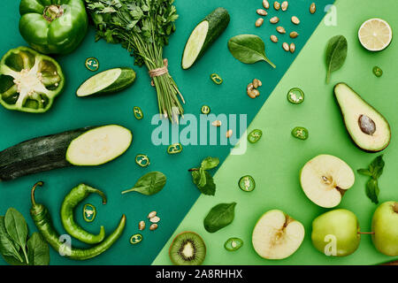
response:
{"label": "light green background surface on the right side", "polygon": [[[396,0],[364,1],[337,0],[337,26],[321,23],[301,54],[295,59],[279,85],[249,126],[262,129],[263,138],[249,144],[246,154],[229,156],[218,170],[215,182],[216,196],[202,195],[175,234],[183,231],[199,233],[207,246],[204,264],[380,264],[396,260],[395,256],[380,254],[371,244],[371,237],[363,235],[359,249],[351,256],[332,258],[312,247],[311,222],[326,210],[311,203],[302,193],[299,172],[302,165],[318,154],[326,153],[345,160],[354,170],[366,167],[379,154],[365,153],[350,141],[341,119],[339,107],[333,99],[334,84],[345,81],[364,99],[379,110],[390,123],[392,141],[383,151],[386,167],[379,179],[379,201],[398,200],[396,172],[398,172],[397,132],[398,105],[397,44],[382,52],[371,53],[357,39],[358,27],[366,19],[386,19],[397,32]],[[325,84],[325,45],[330,37],[343,34],[348,39],[348,57],[340,71],[333,73],[331,83]],[[374,65],[384,71],[381,78],[371,72]],[[264,82],[268,83],[267,81]],[[293,105],[287,102],[287,91],[299,87],[305,93],[305,102]],[[295,126],[310,130],[309,140],[294,139],[290,131]],[[250,174],[256,180],[256,189],[242,192],[237,186],[242,175]],[[344,196],[338,208],[356,213],[362,231],[371,231],[371,216],[376,205],[366,197],[367,178],[356,173],[356,183]],[[203,218],[217,203],[236,202],[233,224],[217,233],[207,233]],[[302,246],[285,260],[270,261],[256,255],[251,244],[251,232],[256,220],[267,210],[278,208],[302,222],[306,235]],[[392,225],[396,225],[392,224]],[[240,237],[244,245],[236,252],[223,248],[230,237]],[[172,239],[171,239],[172,240]],[[154,264],[171,264],[168,257],[169,241]]]}

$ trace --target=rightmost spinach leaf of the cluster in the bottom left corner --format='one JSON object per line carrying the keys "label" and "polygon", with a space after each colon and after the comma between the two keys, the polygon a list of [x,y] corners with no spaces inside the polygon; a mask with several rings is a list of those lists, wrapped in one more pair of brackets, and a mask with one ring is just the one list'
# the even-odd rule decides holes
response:
{"label": "rightmost spinach leaf of the cluster in the bottom left corner", "polygon": [[29,265],[49,265],[50,248],[40,233],[33,233],[27,241]]}

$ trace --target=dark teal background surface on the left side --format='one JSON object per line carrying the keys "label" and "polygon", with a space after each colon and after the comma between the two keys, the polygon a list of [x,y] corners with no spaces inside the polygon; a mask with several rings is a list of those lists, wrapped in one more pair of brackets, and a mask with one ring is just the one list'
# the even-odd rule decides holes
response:
{"label": "dark teal background surface on the left side", "polygon": [[[177,31],[172,35],[170,45],[165,48],[165,57],[169,59],[170,73],[187,101],[186,113],[198,115],[201,106],[208,104],[212,113],[247,113],[249,123],[318,26],[319,20],[324,16],[325,4],[331,2],[333,1],[317,1],[318,12],[315,15],[308,12],[308,1],[290,1],[289,10],[286,12],[270,9],[270,15],[278,15],[284,21],[283,26],[287,31],[294,28],[300,34],[295,39],[295,54],[290,54],[281,50],[282,42],[292,42],[288,34],[278,34],[277,44],[269,40],[269,34],[277,34],[274,30],[276,26],[268,22],[270,15],[265,18],[263,27],[255,27],[254,23],[258,18],[256,9],[261,8],[260,0],[176,1],[180,19],[177,21]],[[17,0],[3,0],[0,3],[0,26],[3,27],[1,54],[12,48],[27,45],[19,35],[18,6]],[[201,19],[218,6],[223,6],[230,12],[229,27],[197,65],[188,71],[182,71],[180,57],[188,35]],[[301,11],[302,24],[295,27],[290,22],[290,17],[298,15],[297,11]],[[150,264],[199,196],[187,172],[188,168],[200,164],[203,157],[207,156],[224,160],[230,146],[186,146],[180,155],[168,156],[165,153],[166,146],[152,145],[150,137],[156,126],[150,125],[150,119],[157,113],[157,101],[156,92],[149,85],[149,76],[145,68],[134,66],[137,80],[132,88],[120,94],[93,99],[75,96],[75,90],[80,83],[93,74],[84,66],[87,57],[99,59],[99,71],[111,67],[133,66],[134,63],[134,59],[119,45],[103,41],[94,42],[94,34],[94,30],[90,28],[87,38],[78,50],[71,55],[57,57],[67,81],[64,93],[58,96],[50,111],[34,115],[0,108],[0,149],[44,134],[105,124],[119,124],[131,129],[134,134],[131,148],[122,157],[100,167],[65,168],[0,183],[0,215],[4,215],[9,207],[15,207],[27,218],[30,233],[36,231],[29,216],[29,193],[30,187],[37,180],[43,180],[46,184],[37,190],[37,202],[49,207],[57,231],[65,233],[58,214],[62,200],[72,187],[86,182],[102,189],[108,196],[108,203],[103,206],[98,196],[90,196],[87,202],[95,204],[98,210],[96,221],[92,224],[84,223],[81,218],[84,204],[82,203],[76,210],[78,223],[93,233],[97,233],[99,226],[103,225],[107,233],[110,233],[125,213],[125,233],[102,256],[81,263],[58,256],[51,249],[50,264]],[[235,60],[228,52],[226,42],[236,34],[257,34],[262,37],[266,44],[266,53],[277,68],[274,70],[264,62],[243,65]],[[210,73],[218,73],[224,79],[224,83],[221,86],[215,85],[209,78]],[[261,96],[249,99],[245,88],[255,77],[262,80],[264,85],[260,88]],[[145,119],[134,119],[132,109],[135,105],[142,108]],[[148,168],[142,169],[134,163],[134,157],[138,153],[149,156],[151,164]],[[167,176],[167,185],[162,192],[153,196],[134,193],[120,195],[123,189],[132,187],[142,174],[150,171],[161,171]],[[142,243],[131,246],[128,242],[129,237],[137,233],[138,222],[145,219],[151,210],[157,210],[161,218],[159,228],[155,232],[150,232],[147,228],[143,232]],[[83,245],[73,241],[73,246]],[[0,259],[0,263],[4,264],[4,261]]]}

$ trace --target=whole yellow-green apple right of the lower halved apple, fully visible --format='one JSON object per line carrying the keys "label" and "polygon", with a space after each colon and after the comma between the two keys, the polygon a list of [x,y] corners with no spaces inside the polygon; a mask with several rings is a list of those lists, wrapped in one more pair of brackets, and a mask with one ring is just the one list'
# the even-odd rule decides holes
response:
{"label": "whole yellow-green apple right of the lower halved apple, fully visible", "polygon": [[312,244],[326,256],[348,256],[358,249],[361,234],[356,215],[331,210],[312,221]]}

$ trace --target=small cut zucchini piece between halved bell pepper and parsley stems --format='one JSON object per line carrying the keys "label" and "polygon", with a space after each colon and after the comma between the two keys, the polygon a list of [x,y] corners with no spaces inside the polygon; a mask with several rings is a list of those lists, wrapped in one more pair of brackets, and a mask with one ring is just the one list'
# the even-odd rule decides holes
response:
{"label": "small cut zucchini piece between halved bell pepper and parsley stems", "polygon": [[95,96],[115,93],[133,84],[135,72],[131,68],[115,68],[97,73],[80,86],[76,95]]}

